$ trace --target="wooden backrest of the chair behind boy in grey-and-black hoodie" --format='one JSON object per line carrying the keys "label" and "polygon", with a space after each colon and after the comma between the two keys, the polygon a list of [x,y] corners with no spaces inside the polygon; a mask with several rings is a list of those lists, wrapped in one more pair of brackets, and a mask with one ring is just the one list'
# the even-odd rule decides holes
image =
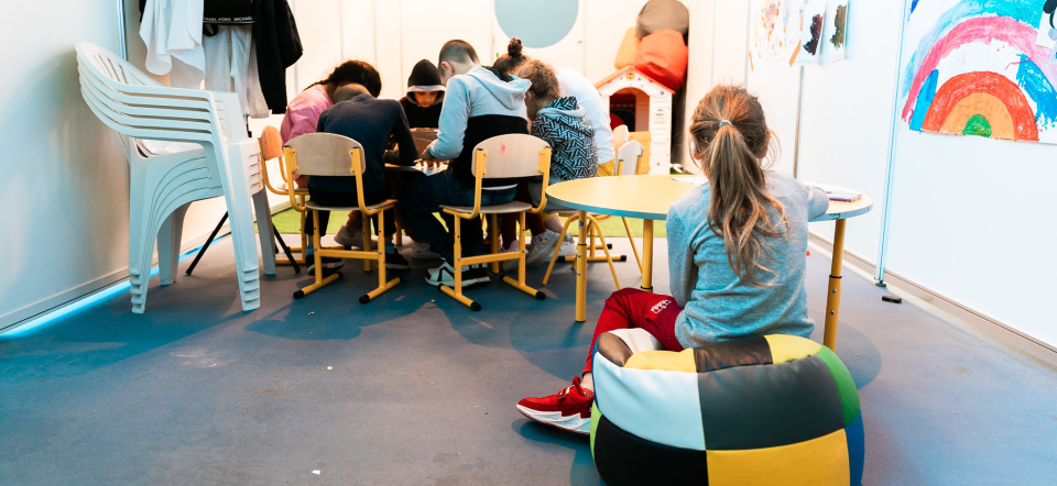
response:
{"label": "wooden backrest of the chair behind boy in grey-and-black hoodie", "polygon": [[[543,151],[548,151],[544,164]],[[509,134],[488,139],[473,147],[473,174],[484,161],[482,177],[502,179],[549,174],[551,144],[532,135]]]}

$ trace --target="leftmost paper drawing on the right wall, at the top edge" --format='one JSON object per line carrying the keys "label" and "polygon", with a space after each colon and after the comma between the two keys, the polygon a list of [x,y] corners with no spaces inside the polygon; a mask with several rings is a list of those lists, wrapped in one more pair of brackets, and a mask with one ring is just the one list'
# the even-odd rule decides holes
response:
{"label": "leftmost paper drawing on the right wall, at the top edge", "polygon": [[753,0],[752,49],[760,60],[785,59],[800,41],[804,0]]}

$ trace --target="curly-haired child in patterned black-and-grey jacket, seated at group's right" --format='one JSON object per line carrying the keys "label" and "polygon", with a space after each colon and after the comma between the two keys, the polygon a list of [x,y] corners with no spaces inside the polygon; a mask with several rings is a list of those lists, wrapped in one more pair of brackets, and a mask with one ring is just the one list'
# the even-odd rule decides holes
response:
{"label": "curly-haired child in patterned black-and-grey jacket, seated at group's right", "polygon": [[[587,112],[577,104],[576,98],[562,96],[558,78],[551,66],[535,59],[523,62],[516,75],[532,81],[525,93],[525,108],[532,120],[532,135],[551,144],[551,178],[548,184],[598,176],[598,150],[595,146],[595,125]],[[522,184],[517,200],[540,203],[544,191],[543,180]],[[563,209],[548,201],[547,209]],[[532,232],[532,247],[525,257],[525,266],[546,263],[559,244],[558,233],[544,227],[540,214],[526,214],[525,223]],[[504,217],[502,224],[503,251],[515,252],[517,232],[515,218]],[[516,265],[516,262],[513,262]],[[508,262],[508,266],[511,262]]]}

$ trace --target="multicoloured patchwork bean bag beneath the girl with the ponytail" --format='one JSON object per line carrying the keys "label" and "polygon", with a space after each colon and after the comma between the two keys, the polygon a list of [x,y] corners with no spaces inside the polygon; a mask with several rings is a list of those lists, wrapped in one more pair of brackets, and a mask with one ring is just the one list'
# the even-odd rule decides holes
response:
{"label": "multicoloured patchwork bean bag beneath the girl with the ponytail", "polygon": [[861,483],[859,394],[828,347],[767,335],[660,350],[641,329],[596,342],[591,454],[606,484]]}

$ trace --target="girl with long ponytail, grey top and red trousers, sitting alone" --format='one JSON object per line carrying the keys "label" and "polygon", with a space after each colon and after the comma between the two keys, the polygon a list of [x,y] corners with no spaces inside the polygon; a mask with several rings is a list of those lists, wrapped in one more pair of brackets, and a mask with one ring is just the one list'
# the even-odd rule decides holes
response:
{"label": "girl with long ponytail, grey top and red trousers, sitting alone", "polygon": [[[719,86],[697,106],[689,151],[708,185],[668,208],[672,296],[622,289],[595,327],[640,328],[668,351],[766,334],[809,338],[804,274],[807,222],[829,207],[826,192],[767,170],[776,141],[763,107],[743,88]],[[593,341],[591,344],[593,349]],[[557,395],[525,398],[533,420],[590,433],[591,356],[582,379]]]}

